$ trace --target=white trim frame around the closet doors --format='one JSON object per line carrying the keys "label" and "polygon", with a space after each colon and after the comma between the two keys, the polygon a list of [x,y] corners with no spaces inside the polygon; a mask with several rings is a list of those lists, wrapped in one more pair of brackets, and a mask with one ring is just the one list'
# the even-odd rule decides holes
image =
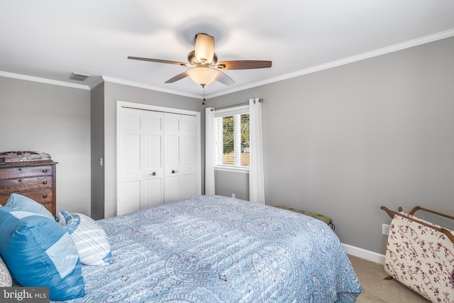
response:
{"label": "white trim frame around the closet doors", "polygon": [[116,215],[118,215],[118,200],[120,199],[120,172],[118,170],[118,163],[120,162],[120,125],[121,125],[121,109],[126,107],[128,109],[142,109],[146,111],[160,111],[164,113],[170,114],[182,114],[188,116],[196,116],[196,170],[197,170],[197,195],[201,195],[201,113],[200,111],[189,111],[187,109],[175,109],[172,107],[165,107],[165,106],[156,106],[150,104],[141,104],[141,103],[134,103],[129,101],[116,101]]}

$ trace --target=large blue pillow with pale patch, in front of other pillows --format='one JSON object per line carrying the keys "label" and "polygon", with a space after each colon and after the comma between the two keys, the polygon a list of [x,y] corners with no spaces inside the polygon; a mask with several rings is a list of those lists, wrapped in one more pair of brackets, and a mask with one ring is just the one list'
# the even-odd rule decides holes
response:
{"label": "large blue pillow with pale patch, in front of other pillows", "polygon": [[58,301],[85,294],[77,248],[48,216],[0,207],[0,254],[22,286],[49,287]]}

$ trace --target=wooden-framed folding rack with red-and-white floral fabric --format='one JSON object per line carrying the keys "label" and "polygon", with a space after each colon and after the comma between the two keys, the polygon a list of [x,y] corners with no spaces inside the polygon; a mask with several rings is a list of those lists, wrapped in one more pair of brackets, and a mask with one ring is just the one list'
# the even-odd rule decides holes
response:
{"label": "wooden-framed folding rack with red-and-white floral fabric", "polygon": [[431,302],[454,298],[454,234],[447,228],[414,216],[426,211],[454,220],[454,216],[415,206],[405,213],[380,207],[392,218],[384,271]]}

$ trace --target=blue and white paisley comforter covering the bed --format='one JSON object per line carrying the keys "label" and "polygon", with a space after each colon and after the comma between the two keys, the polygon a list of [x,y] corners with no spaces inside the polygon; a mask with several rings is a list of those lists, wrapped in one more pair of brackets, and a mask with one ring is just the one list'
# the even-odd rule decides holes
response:
{"label": "blue and white paisley comforter covering the bed", "polygon": [[82,265],[70,302],[355,302],[341,243],[318,219],[201,196],[98,221],[114,263]]}

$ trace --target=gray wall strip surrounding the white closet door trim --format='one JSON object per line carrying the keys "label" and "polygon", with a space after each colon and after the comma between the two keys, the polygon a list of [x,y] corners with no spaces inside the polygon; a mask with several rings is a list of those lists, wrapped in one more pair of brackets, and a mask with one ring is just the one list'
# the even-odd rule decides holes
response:
{"label": "gray wall strip surrounding the white closet door trim", "polygon": [[[116,101],[118,100],[200,111],[201,131],[205,133],[205,112],[200,99],[104,82],[104,216],[106,218],[116,215]],[[201,139],[204,146],[204,136],[201,136]],[[202,181],[204,180],[204,155],[204,148],[202,148]]]}

